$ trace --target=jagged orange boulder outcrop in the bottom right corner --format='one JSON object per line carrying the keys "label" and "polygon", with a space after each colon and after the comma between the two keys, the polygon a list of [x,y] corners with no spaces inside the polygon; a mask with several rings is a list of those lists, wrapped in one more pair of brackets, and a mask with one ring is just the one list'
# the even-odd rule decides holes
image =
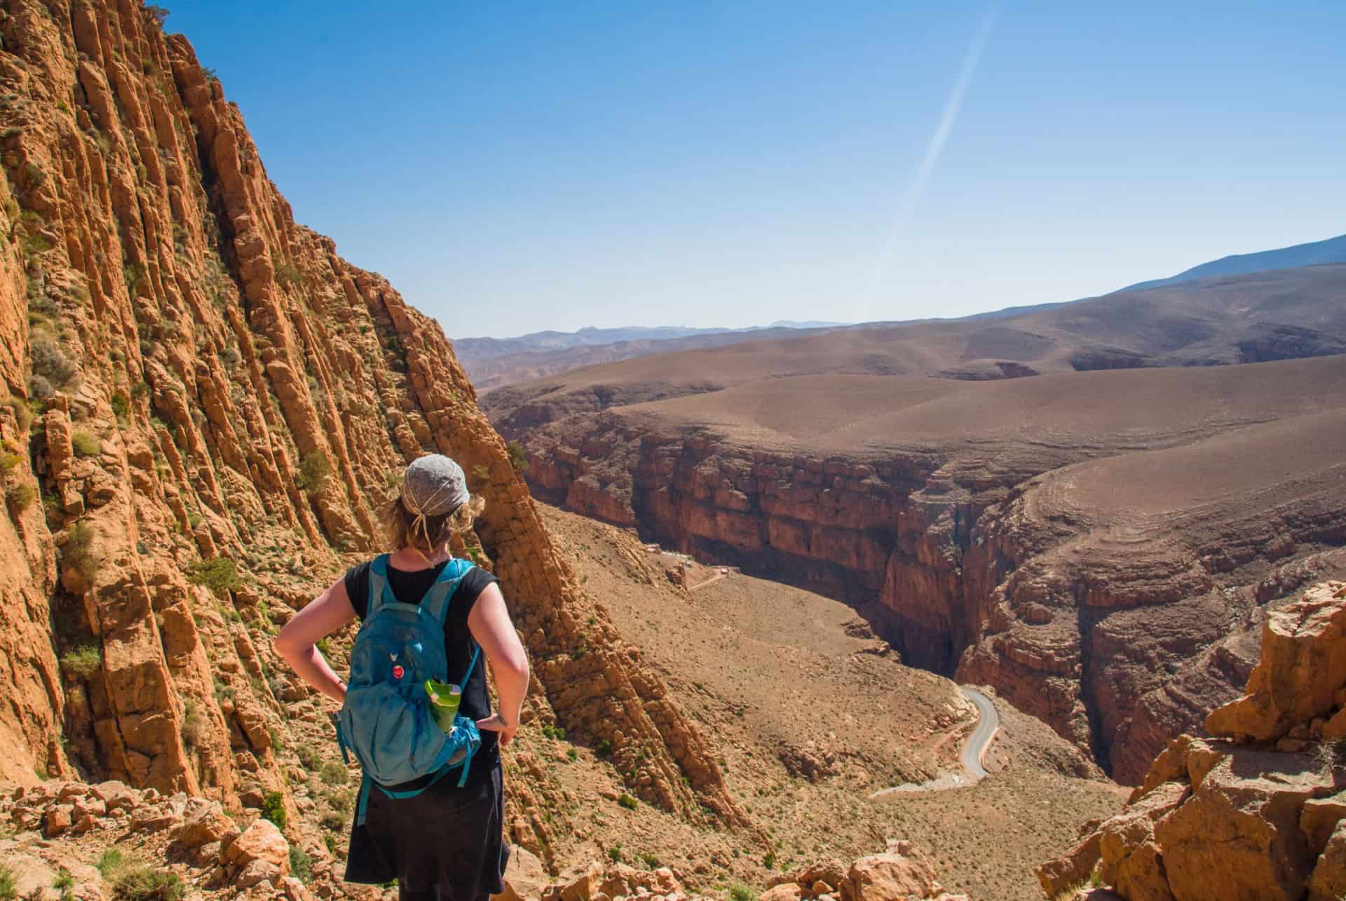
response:
{"label": "jagged orange boulder outcrop in the bottom right corner", "polygon": [[1170,742],[1121,813],[1038,869],[1047,897],[1093,874],[1128,901],[1338,897],[1343,625],[1341,582],[1272,613],[1248,694],[1206,721],[1218,738]]}

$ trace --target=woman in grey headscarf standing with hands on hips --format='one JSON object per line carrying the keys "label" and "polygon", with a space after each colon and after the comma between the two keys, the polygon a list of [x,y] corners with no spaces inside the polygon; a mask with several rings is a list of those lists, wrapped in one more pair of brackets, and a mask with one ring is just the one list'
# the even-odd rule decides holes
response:
{"label": "woman in grey headscarf standing with hands on hips", "polygon": [[[400,496],[384,510],[389,539],[397,549],[350,568],[296,613],[276,638],[276,650],[300,679],[342,702],[338,721],[342,750],[349,745],[365,764],[346,881],[385,883],[396,878],[401,901],[482,901],[503,890],[501,875],[509,846],[502,839],[498,745],[507,745],[518,729],[528,690],[528,657],[495,576],[454,560],[450,554],[450,537],[471,528],[481,509],[482,498],[468,494],[458,463],[439,454],[416,459],[406,467]],[[377,597],[371,595],[371,587]],[[373,618],[371,606],[378,614]],[[316,644],[355,617],[365,625],[351,650],[347,698],[346,683],[327,665]],[[406,637],[408,629],[437,636],[436,617],[443,617],[444,653],[439,664],[437,646],[427,653],[423,648],[427,642]],[[371,650],[370,645],[380,638],[374,633],[384,633],[385,644]],[[392,650],[388,636],[397,636],[393,641],[398,644]],[[475,665],[478,650],[485,652],[495,677],[499,696],[495,712],[490,710],[485,668]],[[458,727],[447,733],[448,739],[444,731],[432,731],[439,727],[424,712],[424,696],[419,692],[424,692],[427,677],[462,683]],[[384,707],[369,714],[367,698],[374,692],[382,692],[378,703]],[[397,710],[389,712],[388,704]],[[366,750],[362,737],[343,734],[343,727],[346,733],[358,731],[370,715],[377,716],[378,730],[369,731],[381,734],[373,743],[384,743]],[[415,726],[402,730],[408,735],[404,745],[386,743],[386,737],[397,731],[385,726],[389,722]],[[478,731],[481,745],[468,749],[466,765],[462,752],[441,765],[454,750],[455,742],[450,739],[466,746]],[[439,743],[429,746],[432,752],[423,752],[416,764],[415,749],[427,741]],[[370,780],[371,769],[420,772],[408,766],[425,769],[427,757],[432,758],[428,766],[439,769],[397,784]]]}

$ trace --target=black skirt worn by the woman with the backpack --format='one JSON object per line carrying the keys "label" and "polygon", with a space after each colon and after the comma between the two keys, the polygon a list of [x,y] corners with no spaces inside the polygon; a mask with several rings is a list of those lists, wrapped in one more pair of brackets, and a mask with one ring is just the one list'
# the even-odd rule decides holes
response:
{"label": "black skirt worn by the woman with the backpack", "polygon": [[509,861],[503,823],[498,757],[472,761],[463,788],[456,773],[416,797],[393,799],[370,787],[365,824],[351,826],[346,881],[396,878],[405,892],[439,889],[464,901],[498,894]]}

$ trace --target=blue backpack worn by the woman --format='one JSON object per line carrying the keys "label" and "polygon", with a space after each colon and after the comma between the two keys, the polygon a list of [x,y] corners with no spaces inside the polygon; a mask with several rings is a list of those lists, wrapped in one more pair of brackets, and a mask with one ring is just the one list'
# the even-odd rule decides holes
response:
{"label": "blue backpack worn by the woman", "polygon": [[[363,770],[355,808],[358,826],[365,823],[371,784],[389,797],[415,797],[454,769],[460,770],[459,788],[467,781],[482,741],[476,722],[459,715],[454,731],[444,733],[429,708],[425,680],[448,681],[444,614],[471,568],[466,560],[450,560],[420,605],[411,605],[393,597],[386,554],[369,567],[369,610],[350,652],[346,703],[332,718],[342,757],[349,764],[350,754],[355,754]],[[464,692],[481,650],[472,650],[459,683]],[[425,776],[433,778],[415,791],[385,788]]]}

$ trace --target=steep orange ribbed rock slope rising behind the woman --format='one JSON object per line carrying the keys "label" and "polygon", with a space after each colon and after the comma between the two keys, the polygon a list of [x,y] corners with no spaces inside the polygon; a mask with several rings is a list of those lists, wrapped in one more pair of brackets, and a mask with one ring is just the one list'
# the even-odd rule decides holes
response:
{"label": "steep orange ribbed rock slope rising behind the woman", "polygon": [[[20,0],[0,36],[0,778],[284,792],[280,664],[241,620],[378,548],[381,498],[440,451],[486,498],[458,551],[514,603],[530,715],[608,739],[650,803],[740,822],[639,655],[572,610],[439,326],[293,222],[186,38],[129,0]],[[541,778],[511,815],[534,847]]]}

